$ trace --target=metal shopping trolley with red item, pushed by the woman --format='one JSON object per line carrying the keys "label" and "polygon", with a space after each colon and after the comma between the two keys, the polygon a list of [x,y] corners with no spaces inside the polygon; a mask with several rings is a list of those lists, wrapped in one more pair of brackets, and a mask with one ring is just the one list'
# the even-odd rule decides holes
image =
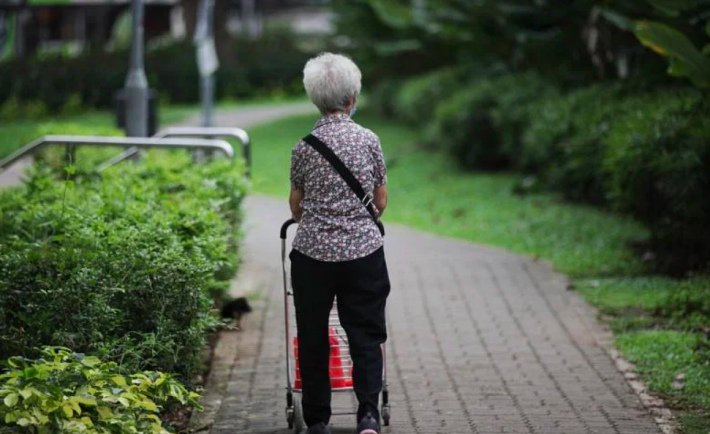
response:
{"label": "metal shopping trolley with red item, pushed by the woman", "polygon": [[[293,307],[293,292],[289,289],[289,278],[286,269],[286,238],[288,229],[296,224],[295,220],[289,220],[281,226],[281,269],[283,272],[284,284],[284,318],[286,332],[286,420],[288,427],[295,433],[300,433],[305,429],[303,421],[303,409],[301,407],[301,374],[298,367],[298,341],[296,339],[296,319],[295,307]],[[330,340],[330,384],[333,392],[354,392],[352,378],[352,360],[350,358],[350,347],[345,330],[338,318],[337,299],[333,303],[328,321]],[[382,399],[380,416],[382,423],[389,426],[390,406],[389,393],[387,387],[387,353],[385,345],[382,345]],[[348,413],[333,413],[334,416],[355,414],[355,411]]]}

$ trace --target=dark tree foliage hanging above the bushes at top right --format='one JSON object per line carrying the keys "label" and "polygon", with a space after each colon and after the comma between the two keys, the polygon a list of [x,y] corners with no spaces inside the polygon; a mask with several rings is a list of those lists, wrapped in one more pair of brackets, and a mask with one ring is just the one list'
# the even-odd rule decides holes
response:
{"label": "dark tree foliage hanging above the bushes at top right", "polygon": [[[685,34],[697,41],[699,23],[707,19],[710,7],[706,0],[335,3],[339,32],[351,39],[356,57],[378,80],[430,70],[428,56],[436,59],[434,65],[438,66],[476,62],[503,64],[511,71],[534,68],[577,85],[593,78],[665,81],[658,74],[663,61],[649,56],[636,36],[669,48],[667,54],[676,59],[687,59],[690,53],[694,60],[690,64],[674,60],[676,72],[681,63],[685,71],[687,66],[706,63],[707,59],[691,42],[685,45],[693,48],[692,53],[672,49],[680,38],[669,40],[667,31],[659,31],[675,28],[679,36],[686,38]],[[655,29],[649,31],[651,26]],[[671,46],[666,47],[664,39],[671,41]]]}

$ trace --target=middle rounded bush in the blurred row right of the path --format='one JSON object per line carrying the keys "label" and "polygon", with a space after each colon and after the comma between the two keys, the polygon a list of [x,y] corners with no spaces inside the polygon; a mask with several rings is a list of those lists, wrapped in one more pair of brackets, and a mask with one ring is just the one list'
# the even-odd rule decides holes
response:
{"label": "middle rounded bush in the blurred row right of the path", "polygon": [[437,107],[429,140],[466,168],[508,167],[528,122],[527,104],[554,94],[535,73],[477,80]]}

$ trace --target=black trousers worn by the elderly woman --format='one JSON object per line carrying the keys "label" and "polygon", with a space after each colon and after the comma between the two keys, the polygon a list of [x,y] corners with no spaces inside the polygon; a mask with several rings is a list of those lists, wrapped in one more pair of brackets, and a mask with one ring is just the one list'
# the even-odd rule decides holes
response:
{"label": "black trousers worn by the elderly woman", "polygon": [[385,303],[390,292],[384,249],[347,262],[321,262],[296,250],[290,258],[306,424],[330,421],[328,317],[334,297],[350,343],[358,420],[370,412],[379,421],[380,345],[387,340]]}

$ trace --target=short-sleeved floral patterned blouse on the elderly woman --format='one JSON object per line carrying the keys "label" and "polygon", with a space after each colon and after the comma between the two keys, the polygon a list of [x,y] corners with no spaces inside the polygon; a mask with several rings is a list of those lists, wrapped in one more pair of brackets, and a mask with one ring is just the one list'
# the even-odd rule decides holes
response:
{"label": "short-sleeved floral patterned blouse on the elderly woman", "polygon": [[[366,193],[387,182],[380,139],[348,115],[323,116],[311,134],[340,158]],[[291,188],[304,192],[295,250],[319,261],[343,262],[382,247],[380,231],[365,206],[331,164],[304,141],[291,154]]]}

